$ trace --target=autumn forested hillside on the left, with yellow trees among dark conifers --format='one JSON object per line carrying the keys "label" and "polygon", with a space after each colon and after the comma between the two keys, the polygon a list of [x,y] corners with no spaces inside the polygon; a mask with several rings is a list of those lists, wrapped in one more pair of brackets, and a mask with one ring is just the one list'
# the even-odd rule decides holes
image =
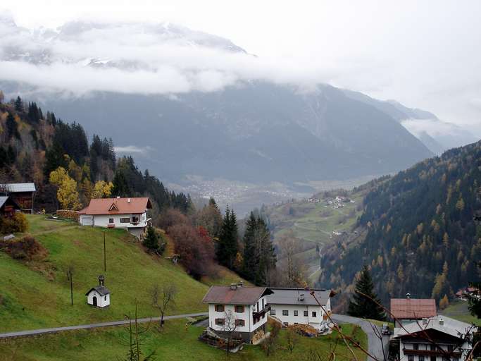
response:
{"label": "autumn forested hillside on the left, with yellow trees among dark conifers", "polygon": [[35,102],[20,97],[4,103],[1,92],[0,140],[0,183],[35,182],[37,210],[51,212],[67,204],[57,203],[60,187],[50,179],[59,167],[73,180],[65,188],[75,198],[70,208],[109,195],[148,195],[154,212],[166,207],[187,212],[192,206],[188,195],[169,192],[149,171],[139,171],[132,157],[116,159],[111,139],[94,134],[89,143],[80,124],[44,114]]}

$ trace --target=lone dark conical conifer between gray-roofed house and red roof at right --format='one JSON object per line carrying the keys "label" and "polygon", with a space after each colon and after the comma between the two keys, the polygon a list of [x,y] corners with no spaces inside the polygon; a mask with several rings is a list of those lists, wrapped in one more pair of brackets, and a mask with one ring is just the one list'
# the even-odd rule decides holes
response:
{"label": "lone dark conical conifer between gray-roofed house and red roof at right", "polygon": [[361,270],[361,275],[356,282],[356,291],[352,300],[349,301],[349,310],[347,313],[354,317],[384,321],[386,314],[376,302],[380,303],[380,300],[374,292],[374,284],[370,276],[370,271],[368,267],[364,265]]}

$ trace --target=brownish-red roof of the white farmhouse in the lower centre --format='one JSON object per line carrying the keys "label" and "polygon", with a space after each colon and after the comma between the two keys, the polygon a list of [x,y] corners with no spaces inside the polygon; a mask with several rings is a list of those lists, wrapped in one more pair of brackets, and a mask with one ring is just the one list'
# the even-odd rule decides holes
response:
{"label": "brownish-red roof of the white farmhouse in the lower centre", "polygon": [[237,287],[212,286],[204,296],[202,302],[220,305],[254,305],[263,295],[270,295],[273,291],[267,287]]}

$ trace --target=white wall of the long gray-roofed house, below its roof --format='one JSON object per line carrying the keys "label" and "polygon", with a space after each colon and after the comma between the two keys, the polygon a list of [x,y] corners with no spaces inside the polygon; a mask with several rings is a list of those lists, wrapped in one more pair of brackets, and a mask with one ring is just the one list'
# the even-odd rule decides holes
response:
{"label": "white wall of the long gray-roofed house, below its roof", "polygon": [[[330,299],[327,300],[326,305],[323,307],[327,312],[330,312]],[[319,305],[270,304],[270,315],[279,319],[285,326],[308,324],[315,329],[320,329],[320,324],[325,322],[325,312]]]}

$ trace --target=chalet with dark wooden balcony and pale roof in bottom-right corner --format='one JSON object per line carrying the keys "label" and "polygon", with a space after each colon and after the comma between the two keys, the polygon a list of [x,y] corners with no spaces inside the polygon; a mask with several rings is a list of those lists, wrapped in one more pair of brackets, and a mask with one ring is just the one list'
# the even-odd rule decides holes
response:
{"label": "chalet with dark wooden balcony and pale roof in bottom-right corner", "polygon": [[394,329],[399,361],[464,361],[470,352],[474,329],[449,317],[425,318]]}

